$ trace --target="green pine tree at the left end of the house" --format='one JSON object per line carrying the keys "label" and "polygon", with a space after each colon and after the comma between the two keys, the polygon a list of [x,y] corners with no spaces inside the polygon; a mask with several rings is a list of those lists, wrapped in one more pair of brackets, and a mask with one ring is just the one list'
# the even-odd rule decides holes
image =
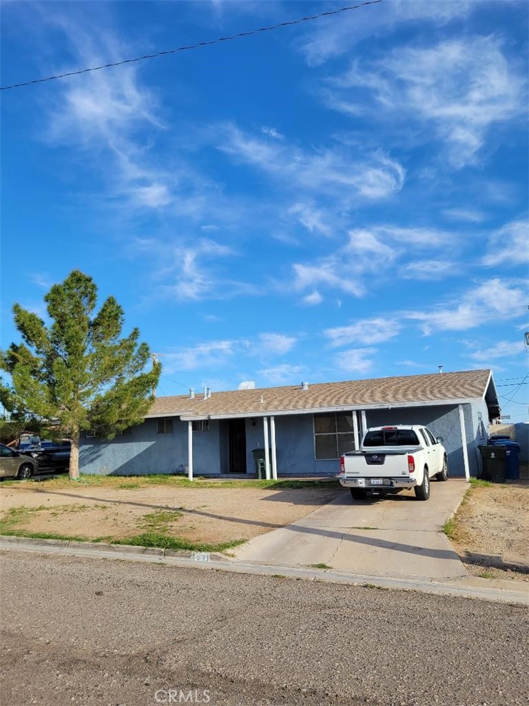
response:
{"label": "green pine tree at the left end of the house", "polygon": [[[11,387],[0,397],[11,408],[28,410],[71,442],[70,477],[79,477],[83,430],[113,438],[140,422],[151,403],[161,366],[146,370],[150,350],[137,328],[120,338],[123,309],[109,297],[95,312],[97,287],[80,270],[54,285],[44,297],[50,325],[13,306],[23,343],[0,353],[0,368]],[[6,405],[6,406],[7,406]]]}

